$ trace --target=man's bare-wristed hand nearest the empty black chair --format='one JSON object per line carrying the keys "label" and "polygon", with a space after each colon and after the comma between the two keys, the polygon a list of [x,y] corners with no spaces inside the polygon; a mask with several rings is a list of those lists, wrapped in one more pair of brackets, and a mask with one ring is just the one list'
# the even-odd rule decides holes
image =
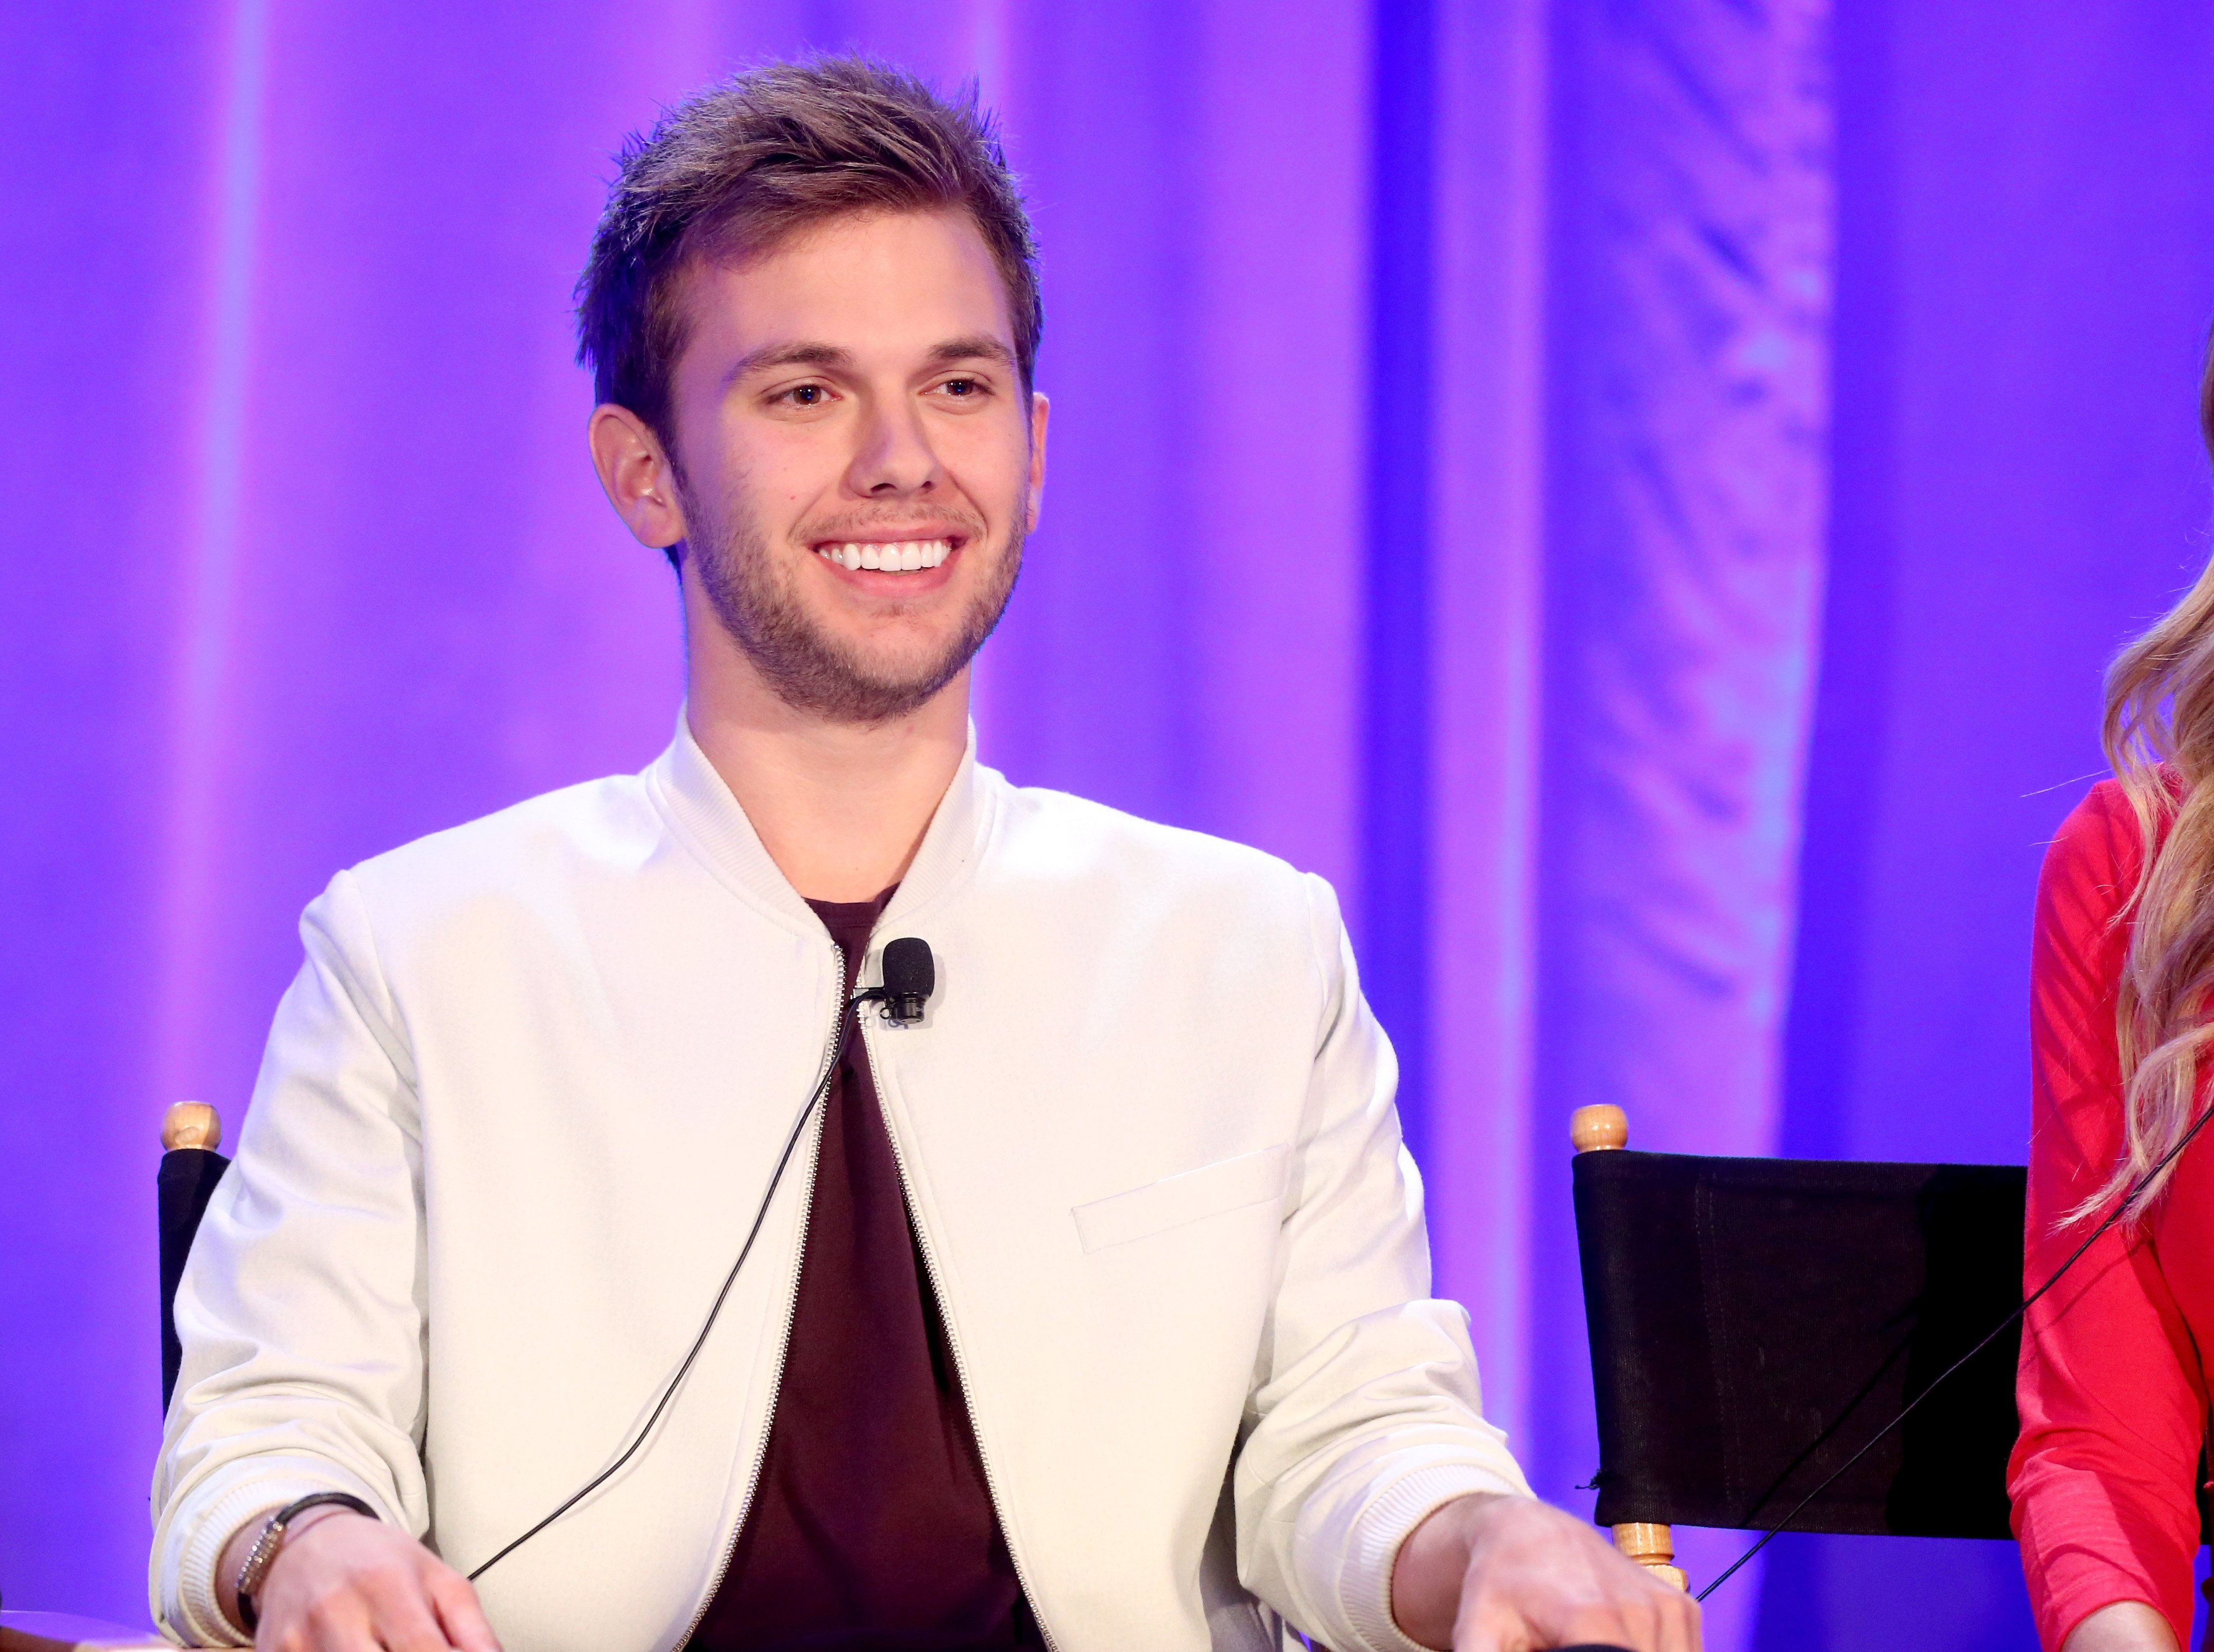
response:
{"label": "man's bare-wristed hand nearest the empty black chair", "polygon": [[1532,1497],[1457,1497],[1399,1546],[1390,1610],[1452,1652],[1623,1645],[1698,1652],[1698,1603]]}

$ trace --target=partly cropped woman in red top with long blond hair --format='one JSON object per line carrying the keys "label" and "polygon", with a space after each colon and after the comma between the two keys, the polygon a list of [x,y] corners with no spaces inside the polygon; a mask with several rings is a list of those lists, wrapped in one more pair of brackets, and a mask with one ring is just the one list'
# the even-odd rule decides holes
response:
{"label": "partly cropped woman in red top with long blond hair", "polygon": [[[2214,352],[2199,414],[2214,454]],[[2108,673],[2106,751],[2117,779],[2061,826],[2037,888],[2030,1287],[2214,1092],[2214,567]],[[2214,1129],[2024,1326],[2008,1490],[2046,1648],[2176,1652],[2190,1636],[2201,1349],[2214,1353]]]}

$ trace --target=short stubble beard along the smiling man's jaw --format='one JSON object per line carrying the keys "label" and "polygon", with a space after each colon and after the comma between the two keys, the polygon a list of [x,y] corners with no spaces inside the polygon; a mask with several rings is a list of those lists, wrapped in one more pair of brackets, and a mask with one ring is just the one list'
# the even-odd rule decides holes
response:
{"label": "short stubble beard along the smiling man's jaw", "polygon": [[[770,556],[768,536],[748,514],[717,520],[686,503],[686,516],[702,529],[693,534],[689,556],[700,560],[700,589],[715,620],[786,706],[837,724],[883,724],[925,706],[999,627],[1023,569],[1021,516],[1010,514],[1007,549],[961,624],[934,655],[899,667],[872,660],[808,616],[795,589],[795,569]],[[965,534],[963,554],[983,543],[983,523],[954,520]]]}

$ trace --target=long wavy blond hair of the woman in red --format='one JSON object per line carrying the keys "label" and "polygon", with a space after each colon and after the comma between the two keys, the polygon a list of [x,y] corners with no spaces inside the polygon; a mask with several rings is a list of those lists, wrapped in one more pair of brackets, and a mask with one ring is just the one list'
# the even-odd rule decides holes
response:
{"label": "long wavy blond hair of the woman in red", "polygon": [[[2214,337],[2199,427],[2214,458]],[[2128,1149],[2075,1218],[2106,1207],[2183,1140],[2214,1043],[2214,562],[2108,669],[2099,737],[2145,853],[2114,919],[2132,923],[2114,1005]],[[2163,1165],[2145,1180],[2134,1211],[2150,1209],[2172,1174]]]}

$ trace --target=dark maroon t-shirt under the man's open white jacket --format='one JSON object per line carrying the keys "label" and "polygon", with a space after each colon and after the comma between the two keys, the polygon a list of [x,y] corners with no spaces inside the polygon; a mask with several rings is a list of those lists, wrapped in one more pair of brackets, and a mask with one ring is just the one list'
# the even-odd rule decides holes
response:
{"label": "dark maroon t-shirt under the man's open white jacket", "polygon": [[[808,901],[852,994],[886,890]],[[861,1005],[859,1014],[872,1014]],[[702,1652],[1043,1652],[848,1023],[762,1479]]]}

